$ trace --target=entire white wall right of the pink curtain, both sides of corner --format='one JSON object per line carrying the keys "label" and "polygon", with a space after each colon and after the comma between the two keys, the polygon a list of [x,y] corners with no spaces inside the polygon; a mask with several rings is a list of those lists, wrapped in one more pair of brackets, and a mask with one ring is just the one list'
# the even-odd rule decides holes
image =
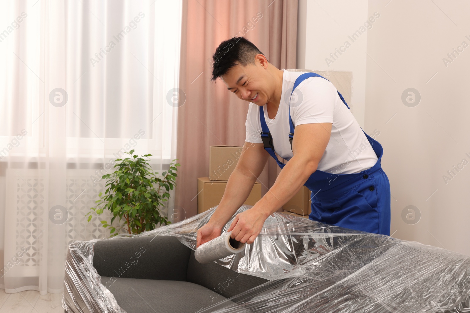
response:
{"label": "entire white wall right of the pink curtain, both sides of corner", "polygon": [[[380,131],[382,167],[391,183],[392,237],[470,255],[470,3],[300,2],[306,13],[299,13],[305,31],[299,31],[298,65],[352,70],[353,114],[367,133]],[[372,28],[328,67],[329,53],[375,12],[380,17]],[[448,58],[459,46],[463,51]],[[451,62],[445,64],[445,57]],[[408,88],[417,90],[419,104],[402,101]]]}

